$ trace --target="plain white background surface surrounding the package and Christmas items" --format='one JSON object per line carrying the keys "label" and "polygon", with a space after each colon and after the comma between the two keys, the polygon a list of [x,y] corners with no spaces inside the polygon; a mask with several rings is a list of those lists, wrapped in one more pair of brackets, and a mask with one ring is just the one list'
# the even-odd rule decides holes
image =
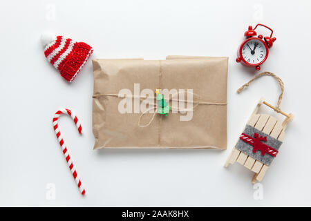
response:
{"label": "plain white background surface surrounding the package and Christmas items", "polygon": [[[0,206],[311,206],[310,6],[307,0],[1,1]],[[236,94],[258,73],[235,62],[243,33],[256,23],[274,29],[277,40],[262,70],[283,79],[281,108],[295,115],[261,183],[262,200],[254,198],[251,171],[223,167],[258,99],[276,104],[279,95],[272,77]],[[93,59],[228,56],[227,151],[93,151],[91,61],[66,83],[44,57],[45,31],[85,41]],[[53,131],[61,107],[72,108],[84,128],[81,137],[69,117],[60,122],[84,197]],[[48,184],[55,184],[55,200],[46,198]]]}

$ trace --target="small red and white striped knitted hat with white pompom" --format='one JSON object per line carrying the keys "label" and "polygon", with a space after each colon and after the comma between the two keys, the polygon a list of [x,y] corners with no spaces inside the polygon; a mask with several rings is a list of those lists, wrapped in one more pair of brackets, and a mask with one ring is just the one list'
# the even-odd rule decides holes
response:
{"label": "small red and white striped knitted hat with white pompom", "polygon": [[93,48],[84,42],[73,41],[64,36],[42,35],[44,55],[66,81],[73,81],[82,69]]}

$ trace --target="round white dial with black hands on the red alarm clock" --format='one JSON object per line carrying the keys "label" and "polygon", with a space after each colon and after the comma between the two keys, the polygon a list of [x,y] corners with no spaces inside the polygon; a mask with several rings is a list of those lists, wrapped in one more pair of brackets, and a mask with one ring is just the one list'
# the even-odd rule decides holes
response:
{"label": "round white dial with black hands on the red alarm clock", "polygon": [[242,46],[242,57],[249,64],[259,64],[263,59],[265,59],[265,55],[267,51],[263,42],[252,39],[250,41],[246,41],[246,43]]}

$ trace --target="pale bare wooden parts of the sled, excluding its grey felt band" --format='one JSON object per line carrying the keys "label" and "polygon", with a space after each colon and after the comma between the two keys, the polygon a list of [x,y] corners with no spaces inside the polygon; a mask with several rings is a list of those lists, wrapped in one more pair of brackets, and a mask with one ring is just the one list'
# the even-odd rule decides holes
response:
{"label": "pale bare wooden parts of the sled, excluding its grey felt band", "polygon": [[[258,114],[258,109],[262,104],[265,104],[270,108],[274,109],[274,111],[276,111],[276,108],[274,106],[265,102],[262,98],[260,102],[258,102],[247,124],[249,124],[250,126],[254,126],[254,128],[258,129],[259,131],[263,131],[263,133],[267,133],[271,137],[274,137],[277,140],[283,142],[283,139],[285,137],[285,128],[288,126],[288,122],[292,121],[294,116],[292,114],[286,114],[282,111],[279,111],[279,113],[286,117],[283,122],[280,122],[276,119],[276,117],[272,117],[267,114]],[[235,147],[233,148],[232,153],[230,153],[225,163],[225,167],[227,167],[229,164],[234,164],[234,162],[238,162],[244,165],[247,169],[255,173],[254,177],[252,178],[252,183],[256,183],[256,181],[261,182],[261,180],[263,180],[265,172],[269,168],[269,166],[267,166],[266,164],[255,160],[253,157],[250,157],[245,153],[242,153]]]}

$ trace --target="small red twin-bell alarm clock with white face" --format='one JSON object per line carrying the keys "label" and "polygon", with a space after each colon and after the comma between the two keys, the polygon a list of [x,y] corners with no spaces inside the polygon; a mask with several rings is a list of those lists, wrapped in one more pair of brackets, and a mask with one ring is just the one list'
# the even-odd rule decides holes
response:
{"label": "small red twin-bell alarm clock with white face", "polygon": [[[271,31],[270,37],[263,37],[258,35],[255,29],[258,26],[263,26]],[[255,67],[256,70],[261,70],[260,65],[265,62],[269,55],[269,48],[272,47],[273,42],[276,40],[272,37],[273,30],[268,26],[258,23],[253,29],[252,26],[248,26],[248,30],[244,33],[246,40],[243,41],[240,48],[238,48],[238,58],[236,62],[241,62],[244,66]]]}

